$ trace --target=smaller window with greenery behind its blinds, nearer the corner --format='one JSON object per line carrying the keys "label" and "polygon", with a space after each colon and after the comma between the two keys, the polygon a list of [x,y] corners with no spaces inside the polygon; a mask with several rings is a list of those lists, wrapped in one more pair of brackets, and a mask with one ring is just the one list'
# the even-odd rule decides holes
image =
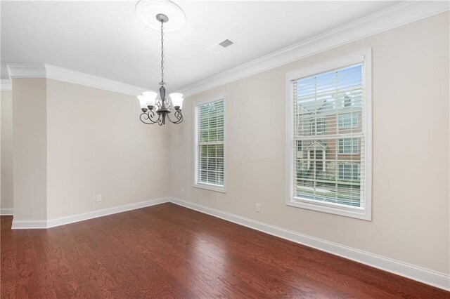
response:
{"label": "smaller window with greenery behind its blinds, nearer the corner", "polygon": [[224,98],[195,105],[195,187],[224,191]]}

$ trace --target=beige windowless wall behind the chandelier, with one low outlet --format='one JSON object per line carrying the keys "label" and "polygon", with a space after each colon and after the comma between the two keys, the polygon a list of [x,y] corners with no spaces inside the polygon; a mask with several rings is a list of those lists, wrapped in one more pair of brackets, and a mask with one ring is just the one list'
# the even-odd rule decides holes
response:
{"label": "beige windowless wall behind the chandelier, with one low outlet", "polygon": [[140,113],[134,96],[47,79],[49,220],[169,195],[169,128]]}

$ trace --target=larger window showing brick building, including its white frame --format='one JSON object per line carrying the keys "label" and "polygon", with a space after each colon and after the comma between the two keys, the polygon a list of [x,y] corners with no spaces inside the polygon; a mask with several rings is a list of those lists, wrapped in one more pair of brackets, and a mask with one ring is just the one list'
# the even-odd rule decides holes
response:
{"label": "larger window showing brick building, including its white frame", "polygon": [[369,50],[288,74],[289,206],[371,220],[370,64]]}

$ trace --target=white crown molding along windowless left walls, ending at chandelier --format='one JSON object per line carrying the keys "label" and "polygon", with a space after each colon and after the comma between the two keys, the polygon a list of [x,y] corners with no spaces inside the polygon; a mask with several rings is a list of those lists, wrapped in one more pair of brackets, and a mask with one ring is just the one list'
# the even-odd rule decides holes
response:
{"label": "white crown molding along windowless left walls, ending at chandelier", "polygon": [[64,69],[54,65],[46,64],[27,64],[27,63],[8,63],[8,73],[10,78],[46,78],[58,81],[64,81],[72,84],[79,84],[94,88],[124,93],[126,95],[139,95],[147,88],[133,86],[130,84],[96,77],[90,74]]}

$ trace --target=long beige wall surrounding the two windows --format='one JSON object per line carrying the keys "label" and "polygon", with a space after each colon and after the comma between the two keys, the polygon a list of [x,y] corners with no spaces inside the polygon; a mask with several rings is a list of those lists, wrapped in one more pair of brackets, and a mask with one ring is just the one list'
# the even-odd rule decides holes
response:
{"label": "long beige wall surrounding the two windows", "polygon": [[[373,220],[286,206],[285,74],[366,48],[373,49]],[[192,187],[193,102],[219,93],[226,194]],[[193,95],[184,114],[172,127],[172,196],[449,274],[448,12]]]}

